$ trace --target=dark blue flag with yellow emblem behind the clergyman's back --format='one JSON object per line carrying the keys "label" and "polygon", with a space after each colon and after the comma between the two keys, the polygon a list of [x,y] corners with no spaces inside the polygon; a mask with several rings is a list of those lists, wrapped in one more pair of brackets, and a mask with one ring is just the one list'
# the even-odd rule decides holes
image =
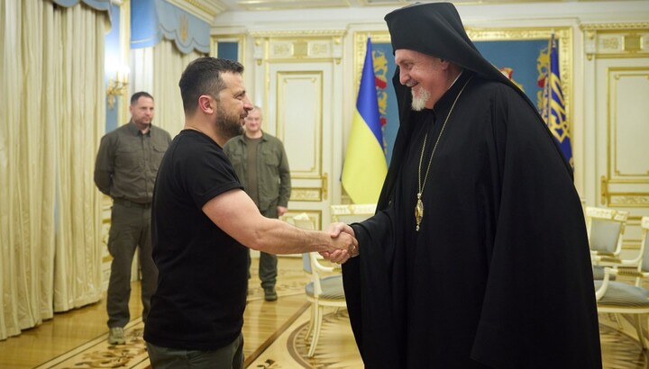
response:
{"label": "dark blue flag with yellow emblem behind the clergyman's back", "polygon": [[550,131],[552,131],[554,139],[559,142],[563,156],[574,168],[572,160],[571,134],[566,119],[565,101],[563,100],[561,74],[559,71],[559,51],[554,34],[550,38],[548,53],[550,54],[548,58],[549,66],[546,69],[547,75],[545,76],[544,81],[544,104],[541,115]]}

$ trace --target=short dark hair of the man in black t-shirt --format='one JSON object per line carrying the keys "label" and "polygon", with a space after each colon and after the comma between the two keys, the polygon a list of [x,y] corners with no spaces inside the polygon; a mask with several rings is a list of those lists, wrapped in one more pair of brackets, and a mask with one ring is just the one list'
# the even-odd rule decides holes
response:
{"label": "short dark hair of the man in black t-shirt", "polygon": [[196,112],[201,94],[218,96],[226,87],[221,74],[227,72],[242,74],[243,66],[235,60],[212,57],[197,58],[187,65],[178,82],[186,115]]}

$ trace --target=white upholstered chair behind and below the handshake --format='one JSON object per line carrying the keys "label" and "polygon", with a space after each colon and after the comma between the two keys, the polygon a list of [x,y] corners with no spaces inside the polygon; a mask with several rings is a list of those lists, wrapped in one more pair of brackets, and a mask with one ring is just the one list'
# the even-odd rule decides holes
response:
{"label": "white upholstered chair behind and below the handshake", "polygon": [[[302,229],[315,229],[314,220],[309,219],[304,213],[293,217],[293,224]],[[321,258],[316,252],[302,254],[304,270],[311,275],[311,282],[305,287],[306,301],[311,302],[311,320],[309,320],[305,339],[308,340],[313,334],[308,357],[313,357],[315,354],[322,329],[324,308],[333,307],[337,310],[347,307],[340,266],[324,266],[319,261]]]}

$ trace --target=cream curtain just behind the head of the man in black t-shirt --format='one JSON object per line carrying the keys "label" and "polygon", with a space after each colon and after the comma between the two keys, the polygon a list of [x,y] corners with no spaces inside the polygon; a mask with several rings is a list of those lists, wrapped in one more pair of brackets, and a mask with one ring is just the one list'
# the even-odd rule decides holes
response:
{"label": "cream curtain just behind the head of the man in black t-shirt", "polygon": [[185,111],[178,81],[190,61],[204,54],[192,51],[183,54],[172,40],[162,39],[153,47],[153,86],[151,94],[156,102],[154,124],[167,130],[173,138],[185,126]]}

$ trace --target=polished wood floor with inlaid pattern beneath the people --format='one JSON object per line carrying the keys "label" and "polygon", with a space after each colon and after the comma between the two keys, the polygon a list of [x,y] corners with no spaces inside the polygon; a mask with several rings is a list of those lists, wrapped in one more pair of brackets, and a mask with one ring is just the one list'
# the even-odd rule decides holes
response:
{"label": "polished wood floor with inlaid pattern beneath the people", "polygon": [[[327,311],[315,356],[306,357],[305,334],[309,319],[303,295],[306,275],[301,260],[279,260],[278,302],[265,302],[256,278],[253,260],[249,302],[243,336],[246,367],[359,368],[361,358],[353,341],[346,311]],[[133,284],[131,311],[138,316],[139,284]],[[635,329],[626,319],[623,329],[606,315],[600,316],[600,335],[605,368],[649,368]],[[142,341],[142,322],[133,319],[127,326],[127,345],[114,347],[106,342],[105,301],[77,311],[57,314],[53,320],[29,329],[16,338],[0,341],[0,368],[147,368],[149,361]],[[561,334],[558,332],[557,334]]]}

